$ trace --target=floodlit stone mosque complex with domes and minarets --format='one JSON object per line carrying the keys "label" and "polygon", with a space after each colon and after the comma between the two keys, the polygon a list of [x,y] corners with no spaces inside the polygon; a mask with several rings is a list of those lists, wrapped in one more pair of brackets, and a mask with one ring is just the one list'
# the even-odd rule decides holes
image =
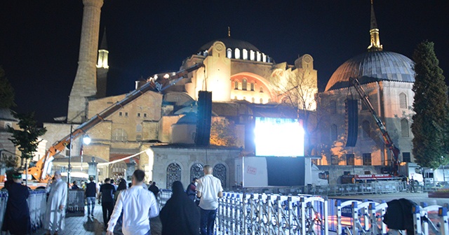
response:
{"label": "floodlit stone mosque complex with domes and minarets", "polygon": [[[48,129],[43,136],[48,141],[47,148],[67,136],[71,126],[76,128],[127,96],[105,97],[109,69],[105,31],[98,50],[102,0],[84,0],[83,4],[79,69],[70,93],[67,121],[44,124]],[[403,55],[382,50],[373,9],[371,14],[368,52],[342,64],[333,73],[326,90],[320,93],[311,55],[302,55],[294,64],[276,63],[255,45],[233,38],[228,29],[227,37],[193,50],[180,66],[182,70],[203,63],[203,68],[189,73],[164,92],[145,92],[123,106],[87,131],[91,144],[83,145],[79,139],[73,141],[72,172],[87,174],[88,162],[94,159],[100,180],[126,177],[136,164],[135,167],[147,173],[147,180],[169,187],[175,180],[188,183],[191,178],[201,176],[203,166],[210,164],[223,186],[232,187],[237,183],[234,159],[255,154],[251,140],[254,117],[298,118],[299,115],[300,119],[304,118],[299,110],[314,113],[315,117],[326,116],[316,118],[320,120],[315,121],[319,131],[309,142],[314,155],[322,155],[317,164],[385,166],[389,153],[373,118],[361,104],[358,105],[357,143],[355,147],[344,146],[347,140],[345,101],[349,97],[359,99],[348,83],[349,77],[359,78],[391,137],[403,151],[401,160],[410,162],[413,160],[410,156],[413,62]],[[142,81],[136,82],[136,89],[141,85]],[[289,92],[298,85],[306,92],[292,101]],[[199,91],[212,92],[212,122],[229,121],[235,136],[232,145],[194,145]],[[292,110],[289,101],[296,108]],[[128,159],[130,155],[135,156]],[[67,156],[67,152],[56,156],[54,169],[64,171]],[[123,158],[126,160],[121,161]]]}

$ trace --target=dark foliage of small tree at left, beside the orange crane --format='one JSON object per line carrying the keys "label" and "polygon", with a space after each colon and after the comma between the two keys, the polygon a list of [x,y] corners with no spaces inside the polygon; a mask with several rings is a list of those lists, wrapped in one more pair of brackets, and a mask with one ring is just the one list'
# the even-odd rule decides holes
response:
{"label": "dark foliage of small tree at left, beside the orange crane", "polygon": [[39,136],[46,133],[45,127],[37,127],[37,122],[34,120],[34,113],[18,114],[13,113],[14,118],[19,120],[18,125],[20,129],[13,129],[8,127],[8,132],[13,134],[12,138],[8,138],[13,144],[18,147],[21,152],[20,158],[32,159],[34,152],[36,152],[37,145],[39,145]]}

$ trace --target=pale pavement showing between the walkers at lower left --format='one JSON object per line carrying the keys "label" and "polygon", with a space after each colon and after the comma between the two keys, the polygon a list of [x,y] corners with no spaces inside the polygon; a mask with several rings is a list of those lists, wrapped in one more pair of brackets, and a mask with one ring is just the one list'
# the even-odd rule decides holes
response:
{"label": "pale pavement showing between the walkers at lower left", "polygon": [[[162,225],[159,217],[152,218],[150,220],[149,225],[152,235],[161,235]],[[104,231],[103,224],[103,213],[100,205],[96,204],[95,209],[93,211],[93,219],[88,218],[87,216],[87,206],[86,206],[86,215],[84,216],[76,216],[76,217],[67,217],[65,218],[65,229],[63,232],[59,234],[62,235],[99,235],[106,234]],[[121,227],[116,226],[114,229],[115,235],[121,235]],[[36,234],[45,234],[46,231],[43,229],[39,229]]]}

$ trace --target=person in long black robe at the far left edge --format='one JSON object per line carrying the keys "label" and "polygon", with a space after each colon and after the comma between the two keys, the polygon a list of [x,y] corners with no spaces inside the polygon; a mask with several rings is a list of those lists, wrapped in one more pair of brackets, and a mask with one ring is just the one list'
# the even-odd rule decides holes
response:
{"label": "person in long black robe at the far left edge", "polygon": [[31,220],[27,204],[29,191],[21,184],[22,173],[15,171],[11,176],[13,180],[8,176],[8,183],[5,183],[5,189],[8,190],[8,202],[2,230],[8,231],[9,234],[30,234]]}

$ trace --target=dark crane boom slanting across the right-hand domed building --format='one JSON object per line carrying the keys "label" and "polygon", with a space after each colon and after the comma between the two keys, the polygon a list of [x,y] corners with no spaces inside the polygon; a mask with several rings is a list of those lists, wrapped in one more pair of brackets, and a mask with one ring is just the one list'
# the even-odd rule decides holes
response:
{"label": "dark crane boom slanting across the right-hand domed building", "polygon": [[384,138],[385,146],[391,151],[391,175],[398,176],[399,175],[399,153],[401,152],[396,145],[394,145],[393,141],[391,140],[391,137],[388,134],[387,128],[385,128],[384,123],[382,120],[380,120],[379,116],[375,112],[373,105],[370,102],[370,99],[368,98],[368,95],[361,87],[360,83],[358,83],[357,78],[349,78],[349,82],[356,88],[356,91],[360,98],[362,99],[363,104],[365,104],[366,107],[368,107],[368,111],[370,111],[371,115],[373,116],[377,127],[379,127],[380,131],[382,132],[382,137]]}

